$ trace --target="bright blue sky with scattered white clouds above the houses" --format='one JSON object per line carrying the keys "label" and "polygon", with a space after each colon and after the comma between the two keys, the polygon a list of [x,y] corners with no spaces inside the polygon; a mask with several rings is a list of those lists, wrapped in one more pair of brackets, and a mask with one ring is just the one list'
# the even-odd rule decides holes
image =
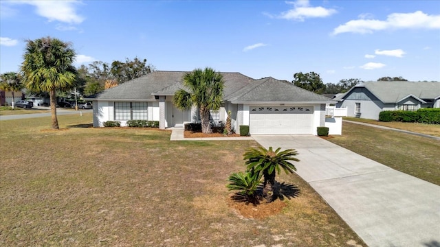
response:
{"label": "bright blue sky with scattered white clouds above the houses", "polygon": [[146,58],[259,79],[440,81],[440,1],[0,1],[0,73],[25,40],[71,42],[76,66]]}

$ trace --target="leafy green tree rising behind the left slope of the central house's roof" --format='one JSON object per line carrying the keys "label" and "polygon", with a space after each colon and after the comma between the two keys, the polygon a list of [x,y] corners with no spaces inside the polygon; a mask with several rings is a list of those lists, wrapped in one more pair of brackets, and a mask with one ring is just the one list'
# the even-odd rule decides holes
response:
{"label": "leafy green tree rising behind the left slope of the central house's roof", "polygon": [[131,61],[126,58],[125,62],[113,61],[110,71],[111,75],[118,80],[118,83],[124,83],[151,73],[154,71],[154,68],[146,64],[146,59],[139,60],[135,58]]}

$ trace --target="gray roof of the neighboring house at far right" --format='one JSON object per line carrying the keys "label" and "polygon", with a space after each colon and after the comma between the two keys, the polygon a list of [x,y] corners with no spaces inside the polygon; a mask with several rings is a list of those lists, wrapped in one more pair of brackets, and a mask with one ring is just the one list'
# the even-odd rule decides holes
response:
{"label": "gray roof of the neighboring house at far right", "polygon": [[[409,95],[414,95],[419,99],[435,99],[440,95],[440,82],[381,81],[364,82],[355,87],[368,89],[384,104],[397,103]],[[347,93],[339,95],[333,100],[341,101],[346,95],[349,95],[352,90],[353,89],[350,89]]]}

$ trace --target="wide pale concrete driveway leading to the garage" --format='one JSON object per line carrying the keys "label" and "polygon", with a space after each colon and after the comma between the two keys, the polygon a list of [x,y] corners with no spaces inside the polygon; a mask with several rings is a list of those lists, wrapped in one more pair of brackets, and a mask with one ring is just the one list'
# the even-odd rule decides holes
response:
{"label": "wide pale concrete driveway leading to the garage", "polygon": [[312,135],[255,135],[294,148],[297,173],[369,246],[440,246],[440,187]]}

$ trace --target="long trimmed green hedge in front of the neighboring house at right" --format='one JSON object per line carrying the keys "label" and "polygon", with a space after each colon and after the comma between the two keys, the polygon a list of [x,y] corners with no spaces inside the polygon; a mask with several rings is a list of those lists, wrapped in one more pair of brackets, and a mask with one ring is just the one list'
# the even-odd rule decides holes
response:
{"label": "long trimmed green hedge in front of the neighboring house at right", "polygon": [[420,108],[416,111],[384,110],[379,113],[379,121],[440,124],[440,108]]}

